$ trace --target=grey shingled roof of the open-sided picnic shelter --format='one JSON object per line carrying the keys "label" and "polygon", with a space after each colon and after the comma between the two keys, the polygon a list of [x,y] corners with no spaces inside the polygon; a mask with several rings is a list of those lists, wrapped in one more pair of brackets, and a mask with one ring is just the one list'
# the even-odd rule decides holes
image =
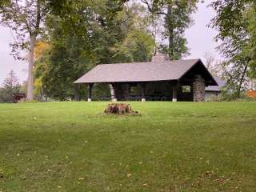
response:
{"label": "grey shingled roof of the open-sided picnic shelter", "polygon": [[200,59],[188,59],[164,62],[101,64],[95,66],[74,83],[178,80],[198,62],[202,63]]}

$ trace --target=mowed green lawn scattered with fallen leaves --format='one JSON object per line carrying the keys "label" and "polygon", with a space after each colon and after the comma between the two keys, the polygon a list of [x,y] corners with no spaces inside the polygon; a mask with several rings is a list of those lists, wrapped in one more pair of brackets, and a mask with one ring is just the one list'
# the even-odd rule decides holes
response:
{"label": "mowed green lawn scattered with fallen leaves", "polygon": [[256,191],[256,102],[0,105],[0,191]]}

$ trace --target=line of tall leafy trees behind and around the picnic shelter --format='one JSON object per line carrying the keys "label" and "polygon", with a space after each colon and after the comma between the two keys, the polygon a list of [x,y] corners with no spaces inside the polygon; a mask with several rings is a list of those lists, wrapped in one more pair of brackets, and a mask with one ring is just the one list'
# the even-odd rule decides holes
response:
{"label": "line of tall leafy trees behind and around the picnic shelter", "polygon": [[[184,38],[199,0],[6,0],[1,24],[14,31],[12,54],[29,63],[27,99],[80,99],[73,82],[99,63],[148,62],[158,50],[170,59],[189,54]],[[255,78],[256,3],[215,0],[209,27],[225,56],[222,76],[237,97]],[[157,47],[157,49],[156,49]],[[27,55],[21,55],[27,50]],[[95,94],[108,94],[97,86]]]}

